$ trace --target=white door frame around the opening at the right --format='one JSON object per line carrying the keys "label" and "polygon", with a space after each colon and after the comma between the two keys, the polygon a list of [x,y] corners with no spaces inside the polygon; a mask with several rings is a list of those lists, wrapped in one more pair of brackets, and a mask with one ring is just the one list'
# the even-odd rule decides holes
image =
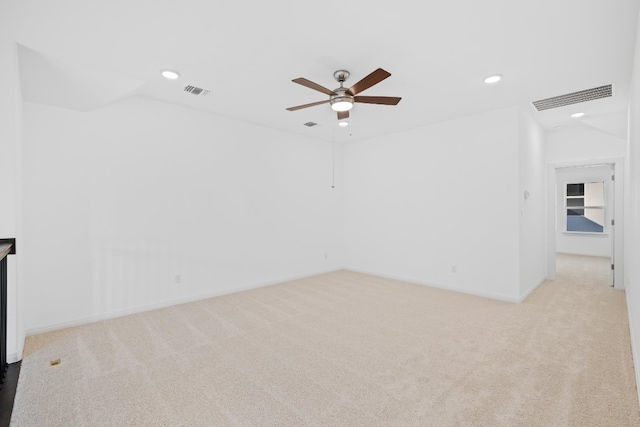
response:
{"label": "white door frame around the opening at the right", "polygon": [[615,181],[613,183],[613,247],[612,259],[615,268],[613,270],[616,289],[624,289],[624,158],[614,157],[606,159],[582,160],[575,162],[549,163],[547,169],[547,279],[556,278],[556,230],[560,225],[556,221],[557,212],[557,176],[556,170],[560,168],[595,166],[610,164],[613,169]]}

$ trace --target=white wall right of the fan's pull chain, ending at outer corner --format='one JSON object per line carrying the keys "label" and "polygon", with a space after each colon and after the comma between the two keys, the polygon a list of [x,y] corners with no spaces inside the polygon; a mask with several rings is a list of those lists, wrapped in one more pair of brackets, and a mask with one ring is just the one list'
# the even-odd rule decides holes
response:
{"label": "white wall right of the fan's pull chain, ending at outer corner", "polygon": [[518,127],[508,108],[348,144],[346,267],[518,300]]}

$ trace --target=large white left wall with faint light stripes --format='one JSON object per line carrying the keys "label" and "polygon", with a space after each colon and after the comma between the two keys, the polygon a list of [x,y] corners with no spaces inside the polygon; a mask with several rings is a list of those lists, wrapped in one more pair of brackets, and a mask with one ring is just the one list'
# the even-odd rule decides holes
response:
{"label": "large white left wall with faint light stripes", "polygon": [[332,189],[330,143],[150,99],[23,120],[28,332],[342,266],[340,147]]}

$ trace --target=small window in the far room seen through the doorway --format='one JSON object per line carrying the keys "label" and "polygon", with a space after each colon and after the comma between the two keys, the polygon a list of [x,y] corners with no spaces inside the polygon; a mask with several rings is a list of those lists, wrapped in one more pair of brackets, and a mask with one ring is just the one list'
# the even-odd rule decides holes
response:
{"label": "small window in the far room seen through the doorway", "polygon": [[567,184],[565,193],[569,233],[604,233],[604,182]]}

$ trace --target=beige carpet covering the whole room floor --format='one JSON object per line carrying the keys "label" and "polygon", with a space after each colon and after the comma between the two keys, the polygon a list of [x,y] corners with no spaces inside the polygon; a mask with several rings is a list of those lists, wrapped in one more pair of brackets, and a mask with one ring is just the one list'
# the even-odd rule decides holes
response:
{"label": "beige carpet covering the whole room floor", "polygon": [[11,425],[639,426],[593,261],[522,304],[341,271],[30,336]]}

